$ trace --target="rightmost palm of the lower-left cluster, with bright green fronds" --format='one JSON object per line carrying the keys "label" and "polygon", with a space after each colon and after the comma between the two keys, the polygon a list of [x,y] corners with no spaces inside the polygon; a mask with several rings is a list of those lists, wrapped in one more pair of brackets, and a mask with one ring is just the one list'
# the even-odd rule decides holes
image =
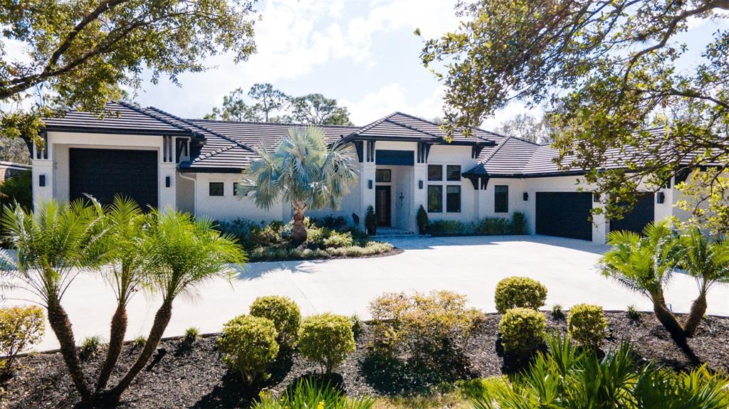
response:
{"label": "rightmost palm of the lower-left cluster, with bright green fronds", "polygon": [[187,213],[155,212],[147,226],[149,234],[149,285],[162,297],[147,343],[122,380],[107,391],[109,404],[119,401],[139,371],[157,349],[172,317],[172,302],[195,286],[217,277],[230,278],[229,263],[246,261],[235,239],[221,235],[209,220],[194,220]]}

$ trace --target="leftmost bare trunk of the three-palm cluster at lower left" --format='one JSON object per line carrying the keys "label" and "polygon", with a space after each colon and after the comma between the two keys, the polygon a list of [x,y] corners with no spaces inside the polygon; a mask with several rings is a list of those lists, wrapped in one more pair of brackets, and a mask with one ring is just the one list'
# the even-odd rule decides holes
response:
{"label": "leftmost bare trunk of the three-palm cluster at lower left", "polygon": [[48,303],[48,322],[50,322],[55,337],[58,338],[58,344],[61,345],[61,356],[63,356],[63,361],[66,362],[66,368],[69,369],[71,380],[74,381],[74,386],[81,395],[81,400],[88,402],[91,391],[86,384],[84,370],[76,350],[74,331],[71,329],[71,321],[69,321],[66,310],[63,309],[58,300]]}

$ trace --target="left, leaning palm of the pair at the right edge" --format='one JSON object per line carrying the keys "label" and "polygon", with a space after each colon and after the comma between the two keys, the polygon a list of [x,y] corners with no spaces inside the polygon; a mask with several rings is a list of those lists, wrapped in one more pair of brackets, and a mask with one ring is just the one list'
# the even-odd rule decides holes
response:
{"label": "left, leaning palm of the pair at the right edge", "polygon": [[683,253],[677,234],[666,222],[651,223],[642,236],[632,231],[612,231],[608,244],[612,247],[599,263],[602,273],[650,298],[655,317],[687,357],[698,362],[687,344],[684,328],[668,309],[663,295],[663,287],[673,277]]}

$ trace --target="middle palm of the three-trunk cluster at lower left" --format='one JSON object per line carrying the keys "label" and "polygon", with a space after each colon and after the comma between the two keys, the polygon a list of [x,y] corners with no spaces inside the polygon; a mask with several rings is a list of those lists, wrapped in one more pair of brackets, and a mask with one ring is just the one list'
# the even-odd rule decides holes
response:
{"label": "middle palm of the three-trunk cluster at lower left", "polygon": [[132,199],[114,197],[114,202],[105,210],[109,263],[101,270],[104,279],[114,290],[117,309],[112,316],[109,330],[109,348],[106,360],[101,366],[96,381],[96,392],[100,392],[109,381],[124,345],[127,330],[127,303],[132,295],[144,285],[149,264],[149,240],[144,234],[147,217]]}

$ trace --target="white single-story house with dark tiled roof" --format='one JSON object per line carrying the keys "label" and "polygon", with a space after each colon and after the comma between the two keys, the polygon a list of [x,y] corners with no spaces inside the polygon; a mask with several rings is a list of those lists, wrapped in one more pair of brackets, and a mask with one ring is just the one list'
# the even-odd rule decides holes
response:
{"label": "white single-story house with dark tiled roof", "polygon": [[[44,148],[33,152],[34,199],[61,201],[114,194],[144,206],[176,208],[218,220],[289,220],[290,206],[256,207],[238,191],[255,148],[272,150],[301,125],[182,119],[157,108],[109,103],[100,119],[69,111],[46,119]],[[362,217],[375,207],[380,226],[415,231],[423,205],[431,220],[474,221],[526,214],[529,231],[604,242],[611,229],[642,229],[680,212],[668,183],[647,194],[632,213],[610,223],[590,209],[601,206],[584,172],[564,172],[556,152],[518,138],[474,129],[446,139],[437,124],[396,112],[364,127],[323,126],[328,143],[350,143],[359,181],[339,210],[309,215]],[[241,189],[242,190],[242,189]]]}

